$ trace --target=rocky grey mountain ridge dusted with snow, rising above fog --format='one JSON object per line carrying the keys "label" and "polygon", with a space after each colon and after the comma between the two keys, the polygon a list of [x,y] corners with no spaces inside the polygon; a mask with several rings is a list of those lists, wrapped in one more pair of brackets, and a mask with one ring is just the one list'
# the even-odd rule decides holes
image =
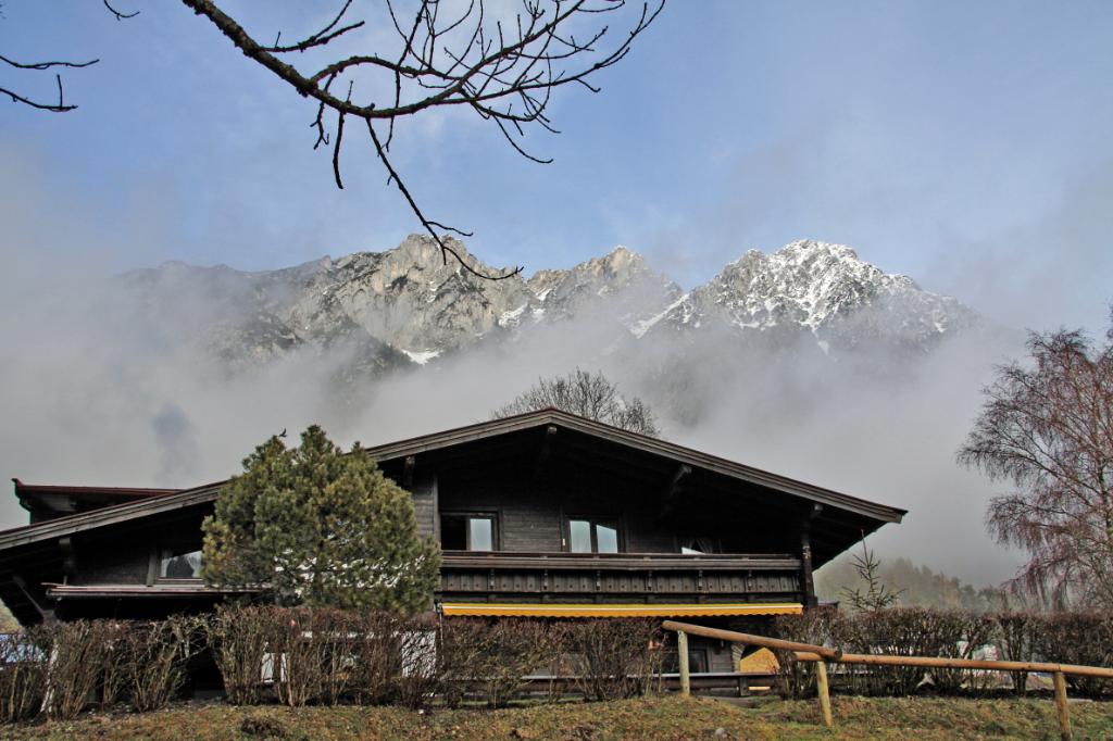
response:
{"label": "rocky grey mountain ridge dusted with snow, rising above fog", "polygon": [[[487,268],[463,244],[453,247]],[[613,324],[622,342],[639,345],[760,333],[811,335],[825,353],[866,340],[926,350],[977,322],[955,299],[883,273],[849,247],[812,240],[748,251],[688,293],[621,246],[568,270],[492,281],[445,264],[437,245],[417,235],[387,251],[280,270],[170,263],[120,280],[142,306],[173,310],[170,320],[232,368],[343,349],[348,372],[371,376],[584,318]]]}

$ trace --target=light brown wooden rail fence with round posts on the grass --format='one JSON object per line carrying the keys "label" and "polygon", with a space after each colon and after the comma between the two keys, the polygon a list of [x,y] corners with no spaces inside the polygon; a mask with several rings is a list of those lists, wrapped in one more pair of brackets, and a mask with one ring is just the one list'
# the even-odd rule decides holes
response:
{"label": "light brown wooden rail fence with round posts on the grass", "polygon": [[1058,728],[1061,738],[1064,741],[1072,738],[1071,733],[1071,711],[1066,704],[1066,675],[1075,676],[1099,676],[1113,679],[1113,669],[1104,666],[1078,666],[1075,664],[1055,664],[1032,661],[986,661],[976,659],[944,659],[940,656],[893,656],[886,654],[863,654],[843,653],[840,649],[833,649],[824,645],[812,645],[810,643],[797,643],[795,641],[782,641],[780,639],[765,635],[750,635],[749,633],[738,633],[725,631],[718,628],[705,628],[689,623],[678,623],[671,620],[664,621],[664,630],[676,631],[677,652],[680,654],[680,692],[690,694],[691,681],[688,672],[688,635],[702,635],[705,638],[729,641],[731,643],[743,643],[747,645],[759,645],[766,649],[778,649],[790,651],[797,661],[807,661],[816,664],[816,685],[819,695],[819,711],[823,714],[824,724],[830,728],[835,724],[831,717],[830,690],[827,682],[827,662],[837,664],[868,664],[874,666],[923,666],[924,669],[981,669],[998,672],[1046,672],[1052,675],[1055,686],[1055,710],[1058,715]]}

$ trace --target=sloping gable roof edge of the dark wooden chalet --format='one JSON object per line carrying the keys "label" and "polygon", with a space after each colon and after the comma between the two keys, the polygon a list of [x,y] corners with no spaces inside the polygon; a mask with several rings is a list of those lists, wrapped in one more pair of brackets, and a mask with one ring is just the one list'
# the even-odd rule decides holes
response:
{"label": "sloping gable roof edge of the dark wooden chalet", "polygon": [[[849,494],[843,494],[829,488],[808,484],[795,478],[781,476],[729,461],[709,453],[702,453],[690,447],[677,445],[668,441],[639,435],[594,422],[555,408],[526,412],[500,419],[489,419],[462,427],[454,427],[429,435],[411,437],[393,443],[385,443],[365,448],[380,463],[415,456],[421,453],[450,448],[475,441],[489,439],[515,432],[554,426],[579,432],[592,437],[640,451],[650,455],[661,456],[693,467],[711,471],[727,477],[756,484],[776,492],[799,497],[806,501],[829,506],[834,510],[851,512],[874,521],[878,526],[887,522],[900,522],[906,510],[892,507],[876,502],[869,502]],[[146,496],[144,498],[116,504],[91,512],[58,517],[46,522],[24,525],[0,532],[0,550],[33,543],[38,541],[61,537],[81,531],[92,530],[136,517],[161,514],[174,510],[204,504],[216,500],[227,480],[205,484],[194,488],[173,491],[168,494]],[[142,490],[154,492],[155,490]]]}

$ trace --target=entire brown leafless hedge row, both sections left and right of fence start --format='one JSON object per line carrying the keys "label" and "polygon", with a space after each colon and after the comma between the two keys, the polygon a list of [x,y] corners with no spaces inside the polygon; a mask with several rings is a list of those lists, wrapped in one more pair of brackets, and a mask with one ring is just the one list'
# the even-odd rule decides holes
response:
{"label": "entire brown leafless hedge row, both sections left and right of fence start", "polygon": [[[1113,664],[1113,615],[998,613],[896,607],[847,615],[812,610],[756,633],[846,653],[975,658],[985,646],[1012,661]],[[39,714],[70,719],[126,703],[155,710],[180,694],[189,662],[211,662],[233,704],[400,704],[502,707],[529,690],[549,700],[568,689],[588,700],[659,688],[664,641],[657,620],[530,620],[359,613],[333,609],[221,607],[165,621],[75,621],[0,641],[0,722]],[[978,654],[981,656],[981,654]],[[778,655],[778,690],[815,692],[814,665]],[[977,692],[1002,674],[844,664],[833,676],[874,695]],[[529,686],[523,678],[531,678]],[[1012,674],[1023,692],[1027,676]],[[1068,678],[1072,692],[1101,696],[1111,683]]]}

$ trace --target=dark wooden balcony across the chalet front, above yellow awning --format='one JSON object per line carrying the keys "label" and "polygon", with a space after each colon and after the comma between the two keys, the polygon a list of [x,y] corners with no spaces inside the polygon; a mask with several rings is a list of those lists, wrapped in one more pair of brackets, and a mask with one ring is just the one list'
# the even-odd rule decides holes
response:
{"label": "dark wooden balcony across the chalet front, above yellow awning", "polygon": [[799,602],[790,555],[445,551],[439,595],[467,602]]}

